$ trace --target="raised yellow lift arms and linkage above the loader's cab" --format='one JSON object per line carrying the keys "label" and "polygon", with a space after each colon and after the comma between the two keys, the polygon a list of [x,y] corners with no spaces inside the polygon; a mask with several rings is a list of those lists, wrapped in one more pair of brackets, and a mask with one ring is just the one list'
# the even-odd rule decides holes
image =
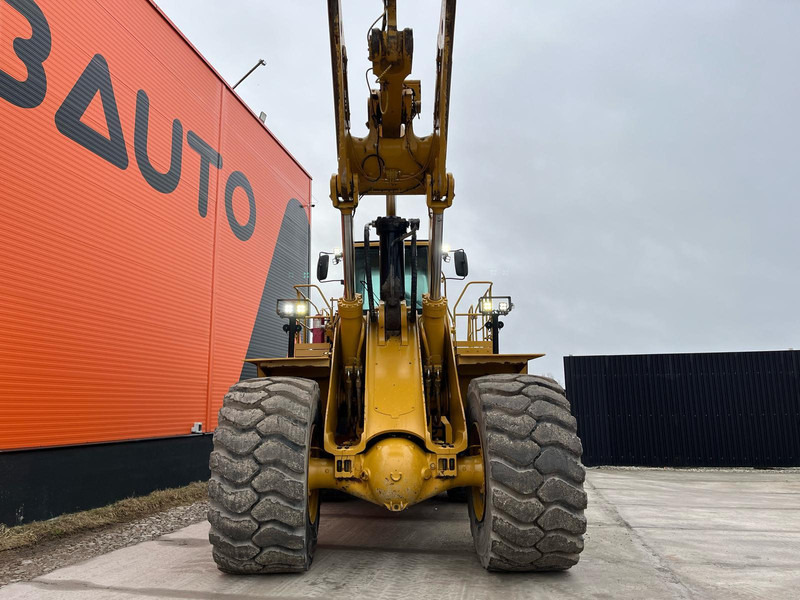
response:
{"label": "raised yellow lift arms and linkage above the loader's cab", "polygon": [[445,160],[455,5],[455,0],[442,3],[433,133],[418,137],[414,132],[413,119],[422,106],[420,82],[406,79],[411,73],[414,38],[411,29],[398,31],[396,0],[386,0],[379,17],[381,27],[372,29],[368,36],[370,70],[379,88],[371,89],[367,99],[368,133],[355,137],[350,133],[341,2],[328,0],[338,151],[338,172],[331,180],[331,193],[337,207],[355,206],[360,196],[369,194],[425,194],[431,202],[449,205],[452,176],[446,172]]}

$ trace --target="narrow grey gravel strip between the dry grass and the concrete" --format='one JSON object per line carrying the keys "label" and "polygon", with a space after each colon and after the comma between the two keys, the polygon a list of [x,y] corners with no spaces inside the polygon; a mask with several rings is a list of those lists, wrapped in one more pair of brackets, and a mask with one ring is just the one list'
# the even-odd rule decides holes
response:
{"label": "narrow grey gravel strip between the dry grass and the concrete", "polygon": [[204,521],[208,503],[195,502],[119,525],[109,525],[33,546],[0,552],[0,586],[28,581],[55,569],[83,562]]}

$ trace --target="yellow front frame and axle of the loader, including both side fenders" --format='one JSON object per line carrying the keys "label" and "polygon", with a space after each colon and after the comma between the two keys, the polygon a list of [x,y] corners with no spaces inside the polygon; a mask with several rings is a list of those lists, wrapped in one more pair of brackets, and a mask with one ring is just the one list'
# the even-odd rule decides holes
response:
{"label": "yellow front frame and axle of the loader, including both side fenders", "polygon": [[[348,319],[334,311],[333,341],[306,344],[309,356],[248,359],[259,376],[290,375],[319,382],[323,406],[323,446],[330,456],[314,452],[309,462],[309,498],[318,501],[319,489],[337,489],[389,510],[403,510],[456,487],[471,487],[473,501],[481,500],[484,464],[480,442],[470,441],[461,390],[472,377],[489,373],[524,373],[527,362],[541,354],[459,353],[446,300],[430,302],[420,319],[402,319],[400,336],[386,337],[381,319],[368,323],[361,313],[361,298],[346,306]],[[405,307],[404,313],[405,313]],[[330,310],[330,309],[329,309]],[[337,445],[335,424],[342,362],[342,324],[358,332],[349,345],[350,367],[365,373],[364,427],[357,443]],[[426,327],[427,326],[427,327]],[[431,351],[430,337],[441,335],[441,345]],[[476,348],[477,349],[477,348]],[[422,369],[438,366],[450,391],[448,425],[452,443],[434,440],[427,424]],[[407,439],[405,436],[412,436]],[[464,451],[469,450],[465,455]],[[461,456],[459,456],[459,454]]]}

